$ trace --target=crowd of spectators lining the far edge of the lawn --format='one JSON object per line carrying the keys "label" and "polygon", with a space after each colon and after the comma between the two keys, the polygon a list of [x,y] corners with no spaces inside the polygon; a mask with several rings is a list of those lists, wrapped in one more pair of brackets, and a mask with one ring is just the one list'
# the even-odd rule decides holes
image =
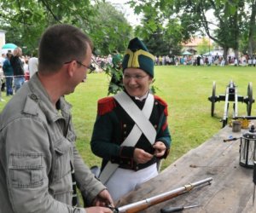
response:
{"label": "crowd of spectators lining the far edge of the lawn", "polygon": [[[119,66],[123,55],[118,51],[113,51],[109,55],[93,55],[92,71],[103,72],[107,66]],[[243,55],[239,59],[235,56],[228,56],[227,61],[223,55],[156,55],[154,58],[156,66],[256,66],[256,55]],[[2,54],[0,57],[0,86],[1,91],[6,91],[6,95],[14,95],[20,86],[38,71],[38,58],[22,55],[22,50],[18,47],[13,52]],[[4,101],[1,96],[0,101]]]}

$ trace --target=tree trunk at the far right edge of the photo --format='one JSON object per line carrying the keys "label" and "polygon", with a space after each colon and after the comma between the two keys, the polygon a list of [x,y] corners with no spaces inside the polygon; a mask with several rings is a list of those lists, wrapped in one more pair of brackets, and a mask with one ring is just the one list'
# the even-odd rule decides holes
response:
{"label": "tree trunk at the far right edge of the photo", "polygon": [[252,14],[250,17],[249,23],[249,38],[248,38],[248,55],[253,56],[253,52],[255,51],[255,41],[254,38],[256,37],[256,24],[255,24],[255,17],[256,17],[256,0],[252,3]]}

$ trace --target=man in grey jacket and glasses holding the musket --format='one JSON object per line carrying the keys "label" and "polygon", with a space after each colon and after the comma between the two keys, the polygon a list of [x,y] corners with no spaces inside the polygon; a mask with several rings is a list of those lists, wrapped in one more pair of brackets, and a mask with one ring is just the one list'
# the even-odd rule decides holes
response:
{"label": "man in grey jacket and glasses holding the musket", "polygon": [[[39,45],[38,72],[0,115],[1,213],[108,213],[113,204],[75,147],[70,105],[86,78],[92,43],[78,28],[51,26]],[[74,176],[73,176],[74,171]],[[73,177],[89,206],[74,206]]]}

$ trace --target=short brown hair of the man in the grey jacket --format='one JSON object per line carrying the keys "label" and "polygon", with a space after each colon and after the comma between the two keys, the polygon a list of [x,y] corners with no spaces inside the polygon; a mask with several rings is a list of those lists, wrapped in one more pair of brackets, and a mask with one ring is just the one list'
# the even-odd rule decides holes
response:
{"label": "short brown hair of the man in the grey jacket", "polygon": [[65,62],[83,61],[90,37],[79,28],[66,24],[50,26],[41,37],[38,50],[38,72],[56,72]]}

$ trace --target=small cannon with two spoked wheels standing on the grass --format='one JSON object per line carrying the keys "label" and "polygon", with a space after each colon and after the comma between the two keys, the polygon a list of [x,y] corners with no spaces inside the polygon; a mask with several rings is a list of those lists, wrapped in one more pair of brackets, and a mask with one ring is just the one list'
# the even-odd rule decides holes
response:
{"label": "small cannon with two spoked wheels standing on the grass", "polygon": [[231,80],[227,85],[225,90],[225,95],[216,95],[216,83],[212,83],[212,96],[208,97],[208,100],[211,101],[211,116],[214,116],[215,103],[217,101],[225,101],[224,104],[224,116],[222,118],[223,127],[228,124],[228,115],[230,101],[233,101],[233,118],[238,117],[238,102],[246,103],[247,105],[247,116],[251,116],[252,106],[254,103],[253,99],[253,83],[248,83],[247,86],[247,96],[243,97],[238,95],[238,89],[236,84]]}

